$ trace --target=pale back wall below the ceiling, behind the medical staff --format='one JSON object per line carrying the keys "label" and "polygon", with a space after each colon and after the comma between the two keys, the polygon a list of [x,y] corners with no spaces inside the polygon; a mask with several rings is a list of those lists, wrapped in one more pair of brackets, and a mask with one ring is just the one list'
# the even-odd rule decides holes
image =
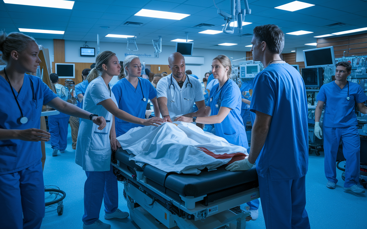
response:
{"label": "pale back wall below the ceiling, behind the medical staff", "polygon": [[[39,44],[42,44],[45,48],[49,49],[50,52],[50,61],[54,61],[54,45],[53,40],[47,39],[38,39]],[[75,62],[75,63],[93,63],[95,62],[95,57],[87,57],[87,56],[80,56],[80,47],[83,47],[84,41],[70,41],[65,40],[65,62]],[[91,42],[88,41],[87,45],[91,48],[95,48],[97,53],[97,41]],[[125,53],[139,53],[139,54],[148,54],[154,56],[154,48],[152,45],[146,44],[138,44],[139,51],[128,51],[126,49],[126,43],[112,43],[112,42],[101,42],[99,43],[100,51],[110,50],[116,53],[117,58],[119,60],[125,59]],[[168,56],[171,55],[172,52],[175,51],[174,46],[162,46],[162,52],[159,53],[159,58],[147,58],[147,57],[140,57],[141,61],[145,61],[145,64],[168,64]],[[224,54],[230,58],[231,60],[240,59],[246,57],[246,51],[226,51],[226,50],[216,50],[216,49],[200,49],[195,48],[193,49],[193,56],[203,56],[204,57],[204,64],[200,66],[196,65],[188,65],[186,69],[192,70],[192,73],[199,77],[200,81],[204,78],[204,74],[211,70],[211,62],[212,59],[219,55]],[[233,64],[238,64],[239,61],[237,60],[233,62]]]}

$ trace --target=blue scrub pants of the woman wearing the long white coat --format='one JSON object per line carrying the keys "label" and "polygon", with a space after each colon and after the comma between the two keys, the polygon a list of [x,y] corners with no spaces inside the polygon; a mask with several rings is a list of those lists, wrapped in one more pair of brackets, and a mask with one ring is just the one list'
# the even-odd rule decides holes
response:
{"label": "blue scrub pants of the woman wearing the long white coat", "polygon": [[84,184],[84,215],[83,222],[86,225],[94,224],[99,218],[102,199],[105,203],[105,212],[114,213],[119,206],[119,192],[117,179],[113,174],[112,165],[109,171],[88,172]]}

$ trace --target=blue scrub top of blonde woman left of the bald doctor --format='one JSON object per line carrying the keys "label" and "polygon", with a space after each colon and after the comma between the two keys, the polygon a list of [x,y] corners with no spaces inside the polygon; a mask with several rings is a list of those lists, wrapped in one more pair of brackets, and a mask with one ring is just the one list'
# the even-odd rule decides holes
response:
{"label": "blue scrub top of blonde woman left of the bald doctor", "polygon": [[[154,99],[157,97],[157,91],[149,80],[139,77],[139,81],[141,83],[141,87],[140,83],[138,83],[137,88],[135,89],[126,78],[123,78],[113,85],[112,92],[119,104],[119,109],[126,111],[135,117],[145,118],[148,99]],[[143,93],[141,88],[143,89]],[[143,101],[143,95],[145,96],[146,101]],[[142,125],[126,122],[115,117],[116,137],[128,132],[131,128],[138,126]]]}

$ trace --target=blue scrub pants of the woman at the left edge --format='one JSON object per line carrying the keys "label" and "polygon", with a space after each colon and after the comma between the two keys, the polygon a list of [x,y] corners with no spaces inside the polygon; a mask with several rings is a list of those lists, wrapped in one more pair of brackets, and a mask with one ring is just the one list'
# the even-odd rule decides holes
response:
{"label": "blue scrub pants of the woman at the left edge", "polygon": [[39,229],[44,214],[41,160],[21,171],[0,175],[0,228]]}

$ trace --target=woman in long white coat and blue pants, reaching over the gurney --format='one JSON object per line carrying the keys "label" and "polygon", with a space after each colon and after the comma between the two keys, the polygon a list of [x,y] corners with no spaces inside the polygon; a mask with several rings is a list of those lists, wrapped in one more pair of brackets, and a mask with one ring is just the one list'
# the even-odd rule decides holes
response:
{"label": "woman in long white coat and blue pants, reaching over the gurney", "polygon": [[[126,218],[128,213],[119,210],[117,180],[111,165],[110,130],[115,125],[116,116],[128,122],[145,126],[160,125],[162,119],[154,117],[141,119],[120,110],[115,96],[111,92],[110,80],[120,74],[120,64],[116,54],[103,51],[96,58],[95,68],[88,74],[89,85],[84,94],[83,109],[92,114],[99,114],[106,119],[106,128],[98,130],[97,125],[88,120],[81,120],[76,143],[75,162],[86,171],[84,185],[83,228],[110,228],[99,220],[102,199],[105,204],[105,219]],[[156,124],[157,123],[157,124]],[[115,136],[115,133],[111,133]],[[111,143],[112,144],[112,143]],[[116,145],[119,143],[115,142]]]}

